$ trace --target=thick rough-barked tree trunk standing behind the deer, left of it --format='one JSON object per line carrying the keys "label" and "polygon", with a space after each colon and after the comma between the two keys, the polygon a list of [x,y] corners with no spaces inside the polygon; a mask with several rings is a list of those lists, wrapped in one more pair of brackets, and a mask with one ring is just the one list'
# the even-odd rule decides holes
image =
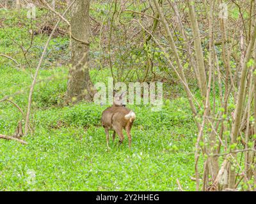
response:
{"label": "thick rough-barked tree trunk standing behind the deer, left of it", "polygon": [[77,0],[72,6],[72,68],[68,74],[67,99],[92,101],[92,82],[88,68],[90,0]]}

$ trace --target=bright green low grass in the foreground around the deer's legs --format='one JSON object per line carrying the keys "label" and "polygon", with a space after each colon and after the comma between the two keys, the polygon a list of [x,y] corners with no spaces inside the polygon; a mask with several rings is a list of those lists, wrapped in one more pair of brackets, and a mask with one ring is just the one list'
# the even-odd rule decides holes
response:
{"label": "bright green low grass in the foreground around the deer's legs", "polygon": [[[184,189],[195,189],[190,180],[195,134],[191,122],[178,121],[168,107],[159,113],[134,108],[138,120],[132,128],[131,150],[127,138],[120,147],[117,140],[111,142],[107,150],[99,122],[103,109],[81,103],[36,112],[35,133],[24,138],[28,145],[0,141],[0,190],[175,191],[176,179]],[[174,124],[185,124],[162,120],[164,113]],[[2,119],[1,132],[6,122]],[[36,175],[32,184],[29,171]]]}

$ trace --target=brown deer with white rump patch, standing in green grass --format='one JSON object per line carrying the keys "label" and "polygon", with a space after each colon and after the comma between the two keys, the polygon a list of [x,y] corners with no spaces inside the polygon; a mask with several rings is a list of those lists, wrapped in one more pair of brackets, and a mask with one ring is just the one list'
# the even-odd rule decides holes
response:
{"label": "brown deer with white rump patch, standing in green grass", "polygon": [[131,128],[132,123],[134,122],[136,115],[129,108],[125,107],[124,96],[126,92],[122,92],[120,96],[116,94],[116,91],[113,91],[113,105],[106,108],[102,112],[101,122],[106,133],[107,147],[109,148],[109,131],[113,131],[112,139],[115,142],[116,133],[119,137],[119,145],[124,141],[123,129],[127,133],[129,140],[129,149],[131,149]]}

